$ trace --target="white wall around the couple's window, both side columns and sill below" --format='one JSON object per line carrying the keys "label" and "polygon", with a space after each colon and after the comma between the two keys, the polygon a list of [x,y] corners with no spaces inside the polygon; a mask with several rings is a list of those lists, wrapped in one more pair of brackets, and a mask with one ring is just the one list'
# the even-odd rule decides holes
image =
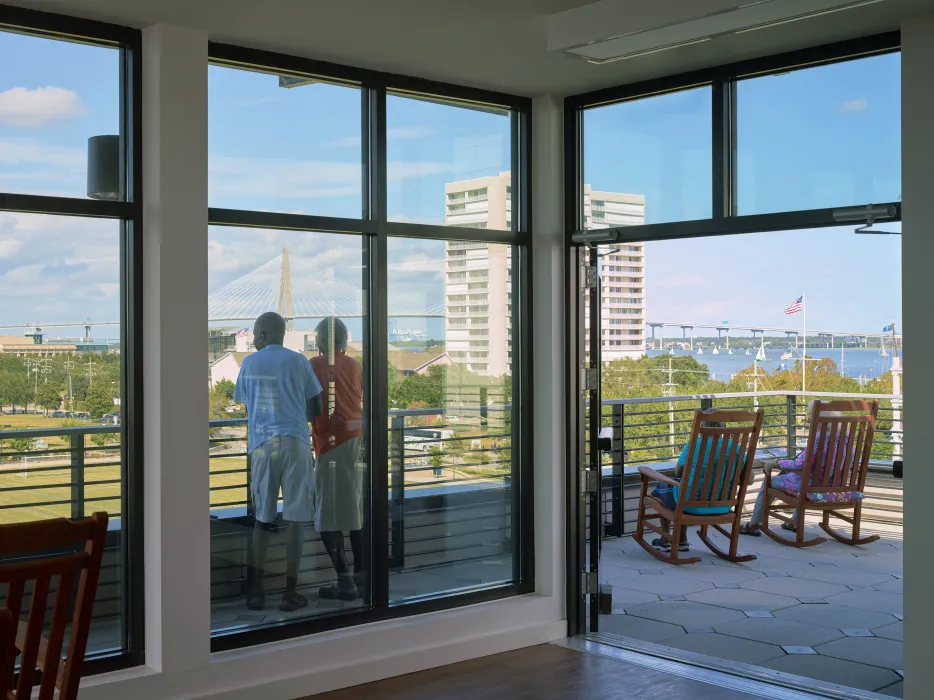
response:
{"label": "white wall around the couple's window, both side columns and sill below", "polygon": [[538,593],[211,654],[208,37],[158,25],[143,39],[147,663],[84,679],[82,700],[288,700],[564,637],[560,101],[535,114],[548,134],[536,139],[535,186],[551,200],[536,210],[533,256]]}

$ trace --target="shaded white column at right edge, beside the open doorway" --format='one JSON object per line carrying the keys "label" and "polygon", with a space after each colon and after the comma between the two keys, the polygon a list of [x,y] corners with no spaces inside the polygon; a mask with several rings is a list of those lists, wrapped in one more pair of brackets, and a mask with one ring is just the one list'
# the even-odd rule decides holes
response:
{"label": "shaded white column at right edge, beside the open doorway", "polygon": [[902,304],[903,332],[913,348],[905,367],[905,697],[930,697],[934,687],[934,562],[930,521],[934,471],[927,438],[934,425],[934,16],[902,25]]}

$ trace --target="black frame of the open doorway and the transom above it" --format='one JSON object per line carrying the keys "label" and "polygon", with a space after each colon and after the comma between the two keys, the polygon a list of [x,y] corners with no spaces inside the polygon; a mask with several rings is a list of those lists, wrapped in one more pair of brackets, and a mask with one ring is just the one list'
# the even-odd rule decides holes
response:
{"label": "black frame of the open doorway and the transom above it", "polygon": [[[601,107],[636,99],[679,92],[709,85],[713,90],[711,143],[713,159],[711,168],[713,209],[708,219],[678,221],[640,226],[621,226],[601,229],[613,232],[613,245],[623,247],[629,242],[721,236],[741,233],[785,231],[794,229],[820,229],[840,226],[834,220],[839,208],[805,209],[773,212],[766,214],[735,215],[736,195],[736,82],[760,76],[784,73],[790,70],[813,68],[841,63],[859,58],[879,56],[901,51],[901,33],[898,31],[862,37],[832,44],[824,44],[782,54],[753,58],[746,61],[679,73],[660,78],[624,84],[588,93],[573,95],[564,100],[564,196],[565,196],[565,300],[566,300],[566,347],[567,365],[565,387],[569,397],[581,397],[580,368],[584,367],[585,338],[583,318],[585,314],[580,293],[583,285],[583,244],[574,241],[574,235],[583,233],[584,228],[584,164],[583,164],[583,114],[594,107]],[[869,204],[869,202],[866,202]],[[874,205],[894,207],[895,216],[889,221],[901,221],[901,202],[872,202]],[[856,204],[855,206],[859,206]],[[854,224],[855,225],[855,224]],[[593,305],[593,297],[591,305]],[[579,332],[580,331],[580,332]],[[599,361],[599,353],[596,353]],[[573,410],[568,411],[566,449],[569,459],[587,464],[584,450],[584,409],[578,400]],[[595,438],[591,437],[593,448]],[[586,503],[580,494],[582,475],[579,469],[567,472],[567,552],[566,552],[566,606],[568,634],[575,636],[587,631],[587,600],[581,574],[587,568],[588,546],[586,541]],[[591,595],[590,604],[596,606],[596,596]]]}

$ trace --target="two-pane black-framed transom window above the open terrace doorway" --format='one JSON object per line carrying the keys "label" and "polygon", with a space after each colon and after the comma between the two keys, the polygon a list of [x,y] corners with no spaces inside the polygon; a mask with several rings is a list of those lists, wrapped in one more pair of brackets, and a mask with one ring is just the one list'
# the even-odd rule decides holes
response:
{"label": "two-pane black-framed transom window above the open terrace doorway", "polygon": [[900,82],[898,36],[880,35],[568,98],[573,232],[820,227],[869,205],[863,222],[897,220]]}

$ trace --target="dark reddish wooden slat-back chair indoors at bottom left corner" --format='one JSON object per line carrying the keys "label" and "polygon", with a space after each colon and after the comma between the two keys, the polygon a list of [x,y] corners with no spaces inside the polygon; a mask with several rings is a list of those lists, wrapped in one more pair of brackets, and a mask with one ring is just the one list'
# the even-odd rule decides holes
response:
{"label": "dark reddish wooden slat-back chair indoors at bottom left corner", "polygon": [[[6,684],[6,693],[0,697],[4,700],[28,700],[35,685],[36,669],[42,672],[39,700],[52,700],[56,690],[59,691],[59,700],[75,700],[78,696],[106,535],[107,513],[95,513],[84,520],[58,518],[0,525],[0,561],[34,552],[66,552],[0,564],[0,584],[7,584],[2,609],[6,611],[6,624],[14,629],[13,650],[0,645],[0,690]],[[80,551],[73,551],[76,546],[82,545]],[[46,637],[43,629],[48,613],[49,593],[53,579],[56,578],[55,604]],[[71,628],[68,630],[68,649],[62,659],[76,578],[78,592],[74,600]],[[27,583],[32,583],[29,614],[25,621],[21,621]],[[14,687],[13,672],[17,656],[20,657],[20,669]]]}

